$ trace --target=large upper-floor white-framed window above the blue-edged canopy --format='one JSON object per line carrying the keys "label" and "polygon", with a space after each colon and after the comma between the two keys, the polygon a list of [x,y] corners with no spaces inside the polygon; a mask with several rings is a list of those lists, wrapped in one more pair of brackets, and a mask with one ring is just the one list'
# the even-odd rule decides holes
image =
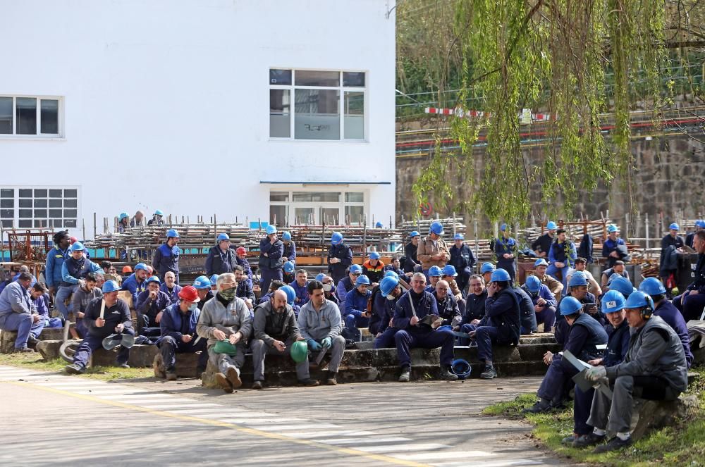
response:
{"label": "large upper-floor white-framed window above the blue-edged canopy", "polygon": [[361,141],[364,115],[363,71],[269,70],[271,138]]}

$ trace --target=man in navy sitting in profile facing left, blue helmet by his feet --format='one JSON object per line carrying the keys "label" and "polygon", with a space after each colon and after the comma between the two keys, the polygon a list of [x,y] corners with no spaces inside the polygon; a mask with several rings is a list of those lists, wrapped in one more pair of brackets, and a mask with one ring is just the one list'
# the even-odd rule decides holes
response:
{"label": "man in navy sitting in profile facing left, blue helmet by his feet", "polygon": [[487,286],[485,316],[477,328],[469,332],[477,342],[477,357],[484,363],[480,374],[483,380],[497,378],[492,363],[492,344],[516,345],[519,343],[521,314],[519,299],[512,288],[512,278],[503,269],[492,273]]}

